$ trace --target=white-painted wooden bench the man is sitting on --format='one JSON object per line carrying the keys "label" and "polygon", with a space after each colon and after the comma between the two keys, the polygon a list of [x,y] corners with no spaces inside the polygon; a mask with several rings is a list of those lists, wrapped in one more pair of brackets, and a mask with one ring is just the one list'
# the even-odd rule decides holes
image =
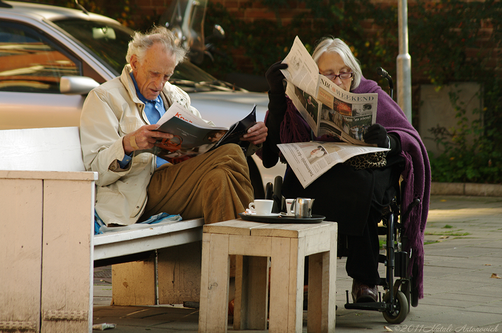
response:
{"label": "white-painted wooden bench the man is sitting on", "polygon": [[117,305],[199,300],[204,220],[94,235],[78,127],[0,130],[0,155],[0,331],[91,332],[94,266]]}

